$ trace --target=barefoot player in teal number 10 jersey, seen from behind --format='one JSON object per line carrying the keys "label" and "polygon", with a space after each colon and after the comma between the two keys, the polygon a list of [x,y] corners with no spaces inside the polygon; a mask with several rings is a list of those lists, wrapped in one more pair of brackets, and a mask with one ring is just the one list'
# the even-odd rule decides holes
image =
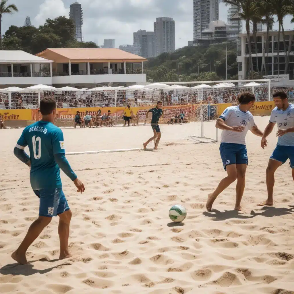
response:
{"label": "barefoot player in teal number 10 jersey, seen from behind", "polygon": [[[59,259],[71,256],[68,241],[72,213],[62,191],[59,168],[74,182],[78,192],[85,191],[83,183],[78,180],[65,158],[63,133],[53,124],[56,117],[55,99],[43,98],[40,102],[40,112],[42,120],[27,126],[14,148],[15,156],[31,167],[31,187],[40,198],[39,218],[31,224],[19,248],[11,255],[21,264],[28,263],[27,249],[49,225],[53,216],[59,216]],[[26,146],[29,147],[30,156],[24,151]]]}

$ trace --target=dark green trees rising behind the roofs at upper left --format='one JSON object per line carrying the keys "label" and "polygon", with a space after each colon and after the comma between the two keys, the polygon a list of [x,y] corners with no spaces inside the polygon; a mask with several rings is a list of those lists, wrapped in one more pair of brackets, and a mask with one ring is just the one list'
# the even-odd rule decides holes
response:
{"label": "dark green trees rising behind the roofs at upper left", "polygon": [[24,50],[37,54],[46,48],[98,48],[94,42],[78,42],[76,28],[71,19],[64,16],[46,19],[43,26],[10,26],[3,37],[8,50]]}

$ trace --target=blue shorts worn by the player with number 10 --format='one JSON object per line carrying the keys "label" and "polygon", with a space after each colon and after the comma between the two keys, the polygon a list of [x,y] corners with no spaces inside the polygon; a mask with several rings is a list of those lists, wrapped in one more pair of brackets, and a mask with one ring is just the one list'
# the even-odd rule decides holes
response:
{"label": "blue shorts worn by the player with number 10", "polygon": [[51,218],[69,210],[62,189],[51,188],[33,191],[40,198],[39,216]]}

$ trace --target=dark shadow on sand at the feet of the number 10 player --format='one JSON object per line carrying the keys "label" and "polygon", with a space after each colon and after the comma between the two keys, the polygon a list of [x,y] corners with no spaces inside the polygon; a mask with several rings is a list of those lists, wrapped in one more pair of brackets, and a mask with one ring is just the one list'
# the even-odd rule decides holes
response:
{"label": "dark shadow on sand at the feet of the number 10 player", "polygon": [[34,268],[34,265],[32,264],[36,261],[55,262],[55,261],[60,261],[60,260],[59,259],[47,260],[46,258],[41,258],[38,260],[29,261],[29,264],[27,264],[27,265],[21,265],[17,262],[16,263],[9,263],[9,264],[4,265],[2,268],[0,268],[0,274],[1,275],[30,276],[30,275],[34,275],[36,273],[39,273],[42,275],[42,274],[49,273],[54,268],[59,268],[60,266],[64,266],[64,265],[71,265],[71,263],[64,262],[59,265],[52,266],[50,268],[45,268],[44,270],[38,270],[38,269]]}

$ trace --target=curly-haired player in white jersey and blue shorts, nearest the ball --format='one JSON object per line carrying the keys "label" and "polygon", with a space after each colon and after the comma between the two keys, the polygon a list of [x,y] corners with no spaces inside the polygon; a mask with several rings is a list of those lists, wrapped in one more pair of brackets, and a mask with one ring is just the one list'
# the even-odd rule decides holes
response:
{"label": "curly-haired player in white jersey and blue shorts, nearest the ball", "polygon": [[208,195],[206,203],[208,211],[211,211],[217,196],[237,179],[235,210],[242,212],[240,203],[245,189],[245,173],[248,165],[245,137],[248,130],[256,136],[263,136],[263,132],[255,125],[249,111],[254,105],[255,96],[250,92],[243,92],[238,95],[237,100],[240,104],[226,108],[216,121],[216,128],[223,130],[220,156],[228,175],[220,181],[216,190]]}

